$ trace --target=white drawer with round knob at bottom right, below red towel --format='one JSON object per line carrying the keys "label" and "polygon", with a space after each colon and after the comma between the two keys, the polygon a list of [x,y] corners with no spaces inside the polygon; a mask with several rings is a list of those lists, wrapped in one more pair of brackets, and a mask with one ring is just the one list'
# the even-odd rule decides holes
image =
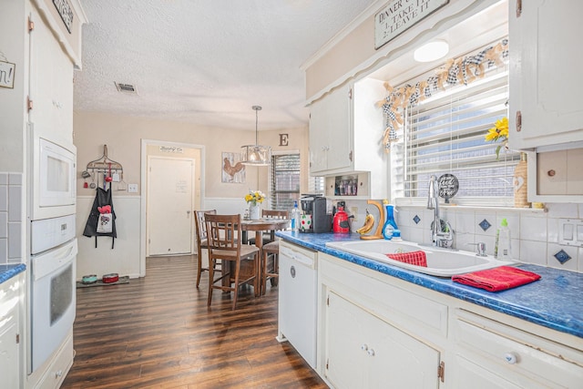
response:
{"label": "white drawer with round knob at bottom right, below red towel", "polygon": [[545,387],[581,387],[583,354],[580,350],[471,312],[456,313],[455,341],[461,347],[458,353],[468,360],[484,359],[492,363],[492,371],[506,376],[520,374]]}

